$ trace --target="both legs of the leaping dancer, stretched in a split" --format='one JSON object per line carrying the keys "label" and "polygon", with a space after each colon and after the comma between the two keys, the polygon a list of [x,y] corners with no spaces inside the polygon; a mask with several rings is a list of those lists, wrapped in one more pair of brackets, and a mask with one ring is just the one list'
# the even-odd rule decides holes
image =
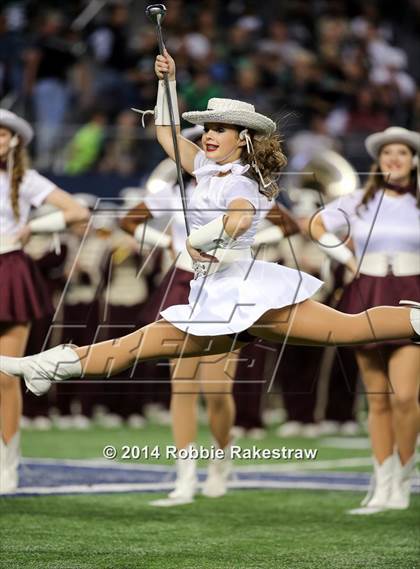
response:
{"label": "both legs of the leaping dancer, stretched in a split", "polygon": [[[415,330],[414,330],[415,326]],[[411,338],[420,334],[419,308],[379,306],[360,314],[343,314],[312,300],[267,311],[249,329],[254,336],[296,344],[348,345]],[[132,334],[91,346],[57,347],[29,358],[0,356],[0,370],[23,376],[40,395],[52,379],[109,377],[138,360],[228,353],[244,343],[228,336],[193,336],[160,320]],[[37,387],[34,379],[40,380]]]}

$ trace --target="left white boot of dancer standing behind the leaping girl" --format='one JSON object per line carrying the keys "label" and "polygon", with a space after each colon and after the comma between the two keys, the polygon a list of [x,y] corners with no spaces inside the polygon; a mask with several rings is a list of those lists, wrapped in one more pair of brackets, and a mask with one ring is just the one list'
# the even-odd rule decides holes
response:
{"label": "left white boot of dancer standing behind the leaping girl", "polygon": [[[195,448],[195,445],[191,444],[188,448]],[[175,488],[169,492],[167,498],[155,500],[151,502],[151,505],[171,507],[191,504],[197,493],[197,487],[197,460],[195,458],[177,458]]]}

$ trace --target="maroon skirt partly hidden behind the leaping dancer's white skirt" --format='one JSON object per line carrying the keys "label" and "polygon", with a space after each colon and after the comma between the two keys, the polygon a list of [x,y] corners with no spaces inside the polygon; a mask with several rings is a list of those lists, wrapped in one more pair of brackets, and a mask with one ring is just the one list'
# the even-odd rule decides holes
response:
{"label": "maroon skirt partly hidden behind the leaping dancer's white skirt", "polygon": [[145,323],[155,322],[161,318],[161,310],[174,304],[188,304],[190,281],[193,276],[191,271],[176,267],[170,269],[140,311],[139,320]]}

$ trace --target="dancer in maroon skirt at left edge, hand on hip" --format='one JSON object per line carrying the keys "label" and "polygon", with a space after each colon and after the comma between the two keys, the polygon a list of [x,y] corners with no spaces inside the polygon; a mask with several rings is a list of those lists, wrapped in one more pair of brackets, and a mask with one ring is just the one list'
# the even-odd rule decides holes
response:
{"label": "dancer in maroon skirt at left edge, hand on hip", "polygon": [[[27,121],[0,110],[0,353],[9,356],[22,356],[31,323],[53,312],[46,284],[22,248],[32,233],[63,231],[88,218],[69,194],[28,168],[32,136]],[[28,223],[31,206],[42,203],[58,211]],[[21,414],[20,386],[0,373],[0,493],[17,488]]]}

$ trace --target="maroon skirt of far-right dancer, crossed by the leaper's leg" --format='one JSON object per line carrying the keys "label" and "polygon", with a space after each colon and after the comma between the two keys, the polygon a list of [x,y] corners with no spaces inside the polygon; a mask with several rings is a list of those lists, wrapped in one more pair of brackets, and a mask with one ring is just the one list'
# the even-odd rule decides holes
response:
{"label": "maroon skirt of far-right dancer, crossed by the leaper's leg", "polygon": [[[344,288],[337,309],[348,314],[357,314],[374,306],[398,306],[400,300],[420,301],[419,275],[409,277],[360,275]],[[380,344],[367,344],[365,347],[369,349],[381,345],[406,346],[410,343],[410,340],[391,340]]]}

